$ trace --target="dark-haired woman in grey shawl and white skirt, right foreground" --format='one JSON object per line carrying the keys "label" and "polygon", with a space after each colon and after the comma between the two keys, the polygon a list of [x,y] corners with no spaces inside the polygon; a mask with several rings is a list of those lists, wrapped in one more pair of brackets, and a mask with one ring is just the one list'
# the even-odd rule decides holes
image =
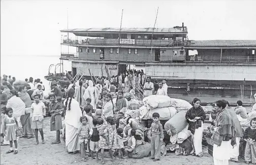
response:
{"label": "dark-haired woman in grey shawl and white skirt, right foreground", "polygon": [[216,101],[214,105],[215,110],[218,111],[214,132],[211,137],[215,165],[228,165],[232,152],[230,145],[234,147],[236,144],[236,126],[226,106],[226,102],[222,100]]}

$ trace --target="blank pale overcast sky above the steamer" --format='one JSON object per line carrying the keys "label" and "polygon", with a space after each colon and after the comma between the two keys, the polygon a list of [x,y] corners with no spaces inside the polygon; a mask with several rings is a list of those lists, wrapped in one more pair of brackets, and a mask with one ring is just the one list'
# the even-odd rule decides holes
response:
{"label": "blank pale overcast sky above the steamer", "polygon": [[187,26],[188,38],[256,39],[256,1],[1,1],[1,55],[60,55],[60,29]]}

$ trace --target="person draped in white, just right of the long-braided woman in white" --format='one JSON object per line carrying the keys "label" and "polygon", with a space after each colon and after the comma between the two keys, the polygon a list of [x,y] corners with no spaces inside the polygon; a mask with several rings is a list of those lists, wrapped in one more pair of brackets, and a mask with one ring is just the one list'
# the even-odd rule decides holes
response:
{"label": "person draped in white, just right of the long-braided woman in white", "polygon": [[93,87],[92,80],[88,81],[88,88],[85,90],[83,98],[86,100],[87,98],[91,99],[91,105],[93,107],[93,110],[97,109],[97,103],[98,103],[98,95],[97,95],[97,89]]}

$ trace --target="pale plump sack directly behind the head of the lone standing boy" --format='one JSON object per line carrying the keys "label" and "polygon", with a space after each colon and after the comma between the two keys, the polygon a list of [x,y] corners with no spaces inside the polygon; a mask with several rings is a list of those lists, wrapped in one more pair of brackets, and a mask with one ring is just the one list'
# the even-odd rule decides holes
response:
{"label": "pale plump sack directly behind the head of the lone standing boy", "polygon": [[174,107],[164,107],[164,108],[154,108],[149,109],[149,118],[153,119],[153,113],[159,113],[159,120],[169,120],[172,116],[176,114],[176,109]]}

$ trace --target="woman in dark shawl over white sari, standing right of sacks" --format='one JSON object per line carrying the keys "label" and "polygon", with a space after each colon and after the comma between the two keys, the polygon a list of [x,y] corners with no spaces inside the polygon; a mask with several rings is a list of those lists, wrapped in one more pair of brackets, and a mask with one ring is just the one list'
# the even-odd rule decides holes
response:
{"label": "woman in dark shawl over white sari, standing right of sacks", "polygon": [[206,114],[204,109],[200,106],[200,100],[198,98],[194,98],[192,103],[193,107],[186,112],[185,117],[188,122],[188,130],[192,133],[195,154],[202,157],[202,138]]}

